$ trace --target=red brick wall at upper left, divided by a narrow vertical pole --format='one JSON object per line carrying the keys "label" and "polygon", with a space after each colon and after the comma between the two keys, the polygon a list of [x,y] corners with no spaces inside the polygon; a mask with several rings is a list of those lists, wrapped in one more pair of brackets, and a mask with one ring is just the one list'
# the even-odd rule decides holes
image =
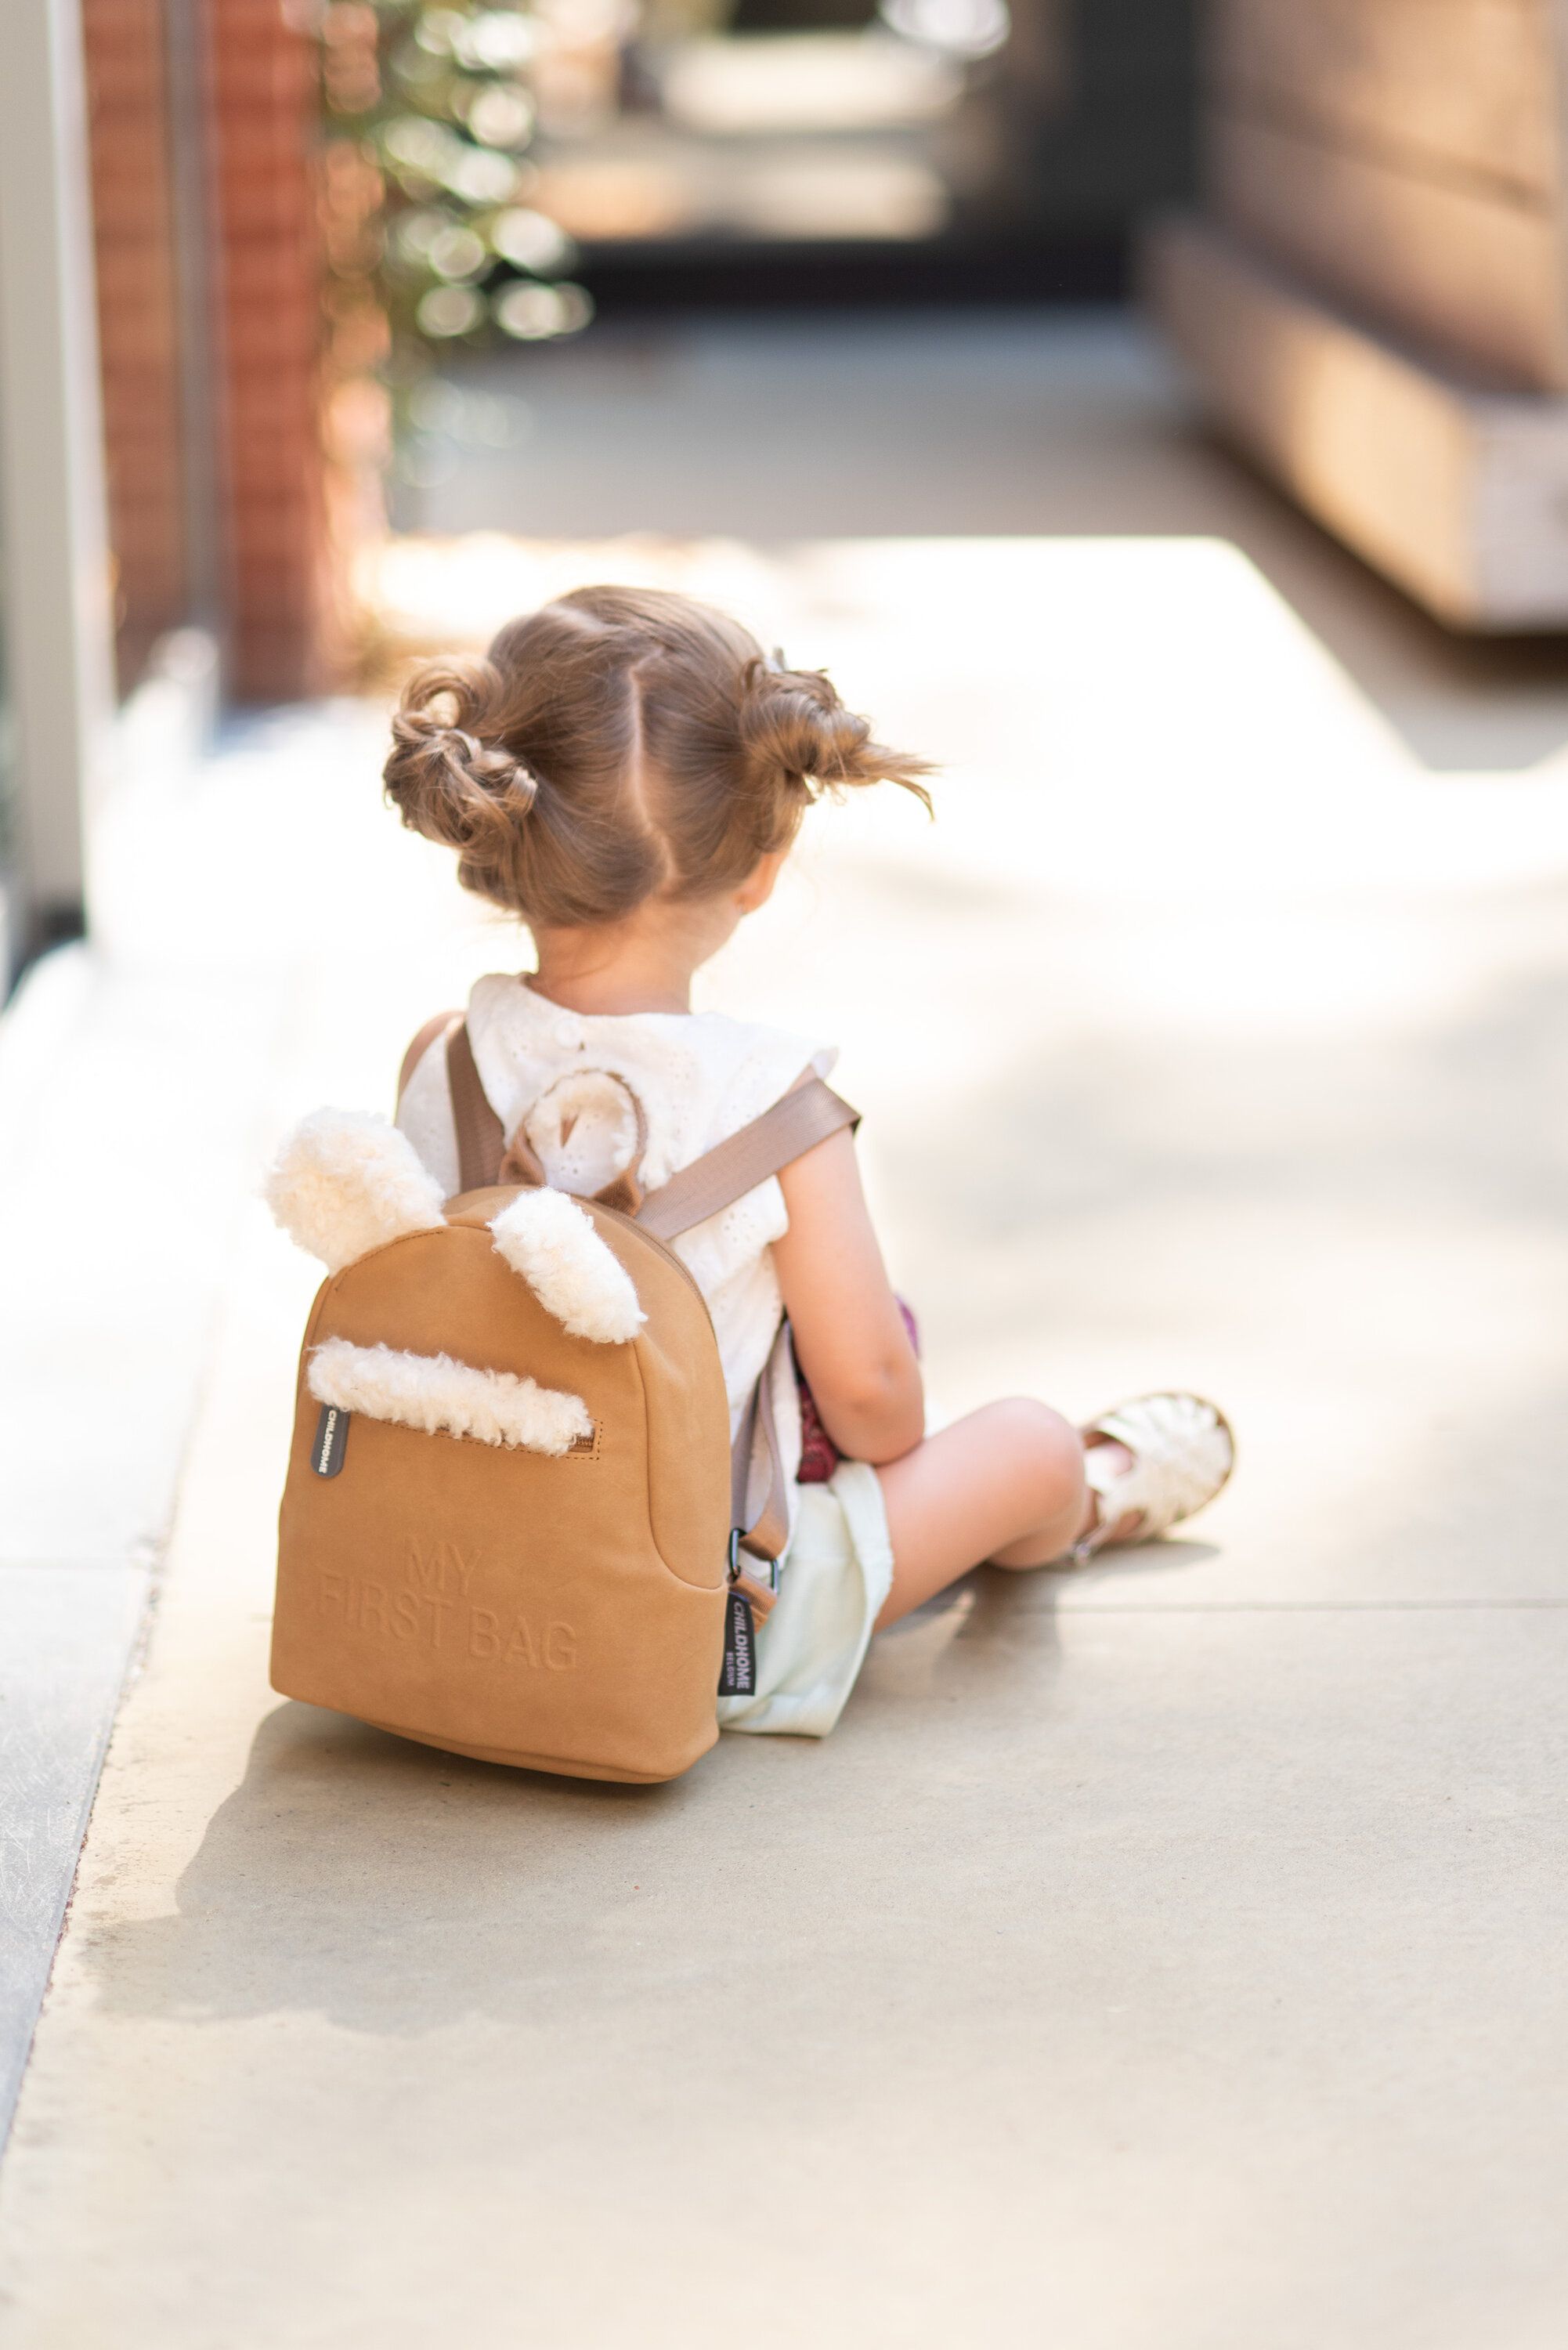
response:
{"label": "red brick wall at upper left, divided by a narrow vertical pole", "polygon": [[[317,42],[299,0],[195,0],[209,298],[195,357],[209,414],[186,418],[169,125],[169,0],[82,0],[120,682],[193,618],[188,479],[216,482],[219,602],[240,700],[317,691],[334,670],[322,456]],[[188,468],[183,432],[216,435]]]}

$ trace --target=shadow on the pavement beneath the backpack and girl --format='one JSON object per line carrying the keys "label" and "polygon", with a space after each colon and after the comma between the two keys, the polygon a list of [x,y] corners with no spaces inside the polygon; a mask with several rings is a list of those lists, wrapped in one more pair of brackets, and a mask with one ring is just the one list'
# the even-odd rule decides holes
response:
{"label": "shadow on the pavement beneath the backpack and girl", "polygon": [[[1211,1556],[1201,1544],[1128,1549],[1095,1574],[1140,1584],[1194,1553]],[[896,1791],[931,1760],[931,1720],[952,1708],[1041,1725],[1063,1582],[978,1570],[875,1643],[875,1697],[851,1699],[835,1739],[724,1737],[668,1786],[501,1770],[287,1699],[179,1878],[176,1913],[85,1946],[99,2000],[183,2023],[320,2012],[393,2037],[463,2016],[515,2023],[567,1979],[574,1998],[614,1979],[628,1904],[670,1866],[705,1875],[705,1856],[736,1875],[731,1934],[783,1948],[797,1932],[788,1875],[780,1887],[762,1868],[757,1814],[788,1805],[790,1828],[773,1821],[776,1833],[811,1840],[813,1807],[837,1800],[820,1781],[858,1781],[867,1737]],[[813,1791],[797,1786],[802,1772]],[[712,1967],[717,1986],[731,1934],[693,1960],[686,1925],[677,1913],[679,1969]]]}

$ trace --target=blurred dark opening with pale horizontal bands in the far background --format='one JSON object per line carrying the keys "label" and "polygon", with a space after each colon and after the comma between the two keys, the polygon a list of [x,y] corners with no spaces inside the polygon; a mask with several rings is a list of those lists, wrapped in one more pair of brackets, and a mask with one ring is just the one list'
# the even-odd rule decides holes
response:
{"label": "blurred dark opening with pale horizontal bands in the far background", "polygon": [[649,0],[543,209],[602,306],[1119,294],[1194,47],[1192,0]]}

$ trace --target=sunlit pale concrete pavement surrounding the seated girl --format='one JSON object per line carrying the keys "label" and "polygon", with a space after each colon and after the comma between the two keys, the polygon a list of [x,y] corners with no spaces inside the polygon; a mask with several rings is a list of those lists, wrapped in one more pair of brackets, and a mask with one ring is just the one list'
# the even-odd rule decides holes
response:
{"label": "sunlit pale concrete pavement surrounding the seated girl", "polygon": [[[1180,1379],[1234,1490],[973,1577],[820,1746],[663,1791],[400,1746],[266,1687],[313,1274],[230,1147],[5,2169],[7,2350],[1556,2350],[1568,693],[1446,656],[1133,409],[1074,414],[1164,536],[785,545],[738,501],[726,538],[395,550],[381,590],[416,642],[691,585],[947,761],[936,827],[813,820],[710,999],[842,1041],[945,1408]],[[252,1006],[256,1159],[515,959],[374,768],[374,712],[280,719],[101,841],[110,980],[188,982],[214,1072]]]}

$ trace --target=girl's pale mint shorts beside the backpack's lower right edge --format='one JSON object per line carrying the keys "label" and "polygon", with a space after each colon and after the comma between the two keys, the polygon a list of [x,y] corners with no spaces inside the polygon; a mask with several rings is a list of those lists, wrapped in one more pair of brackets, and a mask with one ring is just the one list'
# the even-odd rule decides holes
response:
{"label": "girl's pale mint shorts beside the backpack's lower right edge", "polygon": [[778,1600],[757,1629],[757,1694],[722,1697],[719,1730],[825,1739],[865,1664],[891,1582],[877,1471],[839,1462],[825,1485],[802,1485]]}

